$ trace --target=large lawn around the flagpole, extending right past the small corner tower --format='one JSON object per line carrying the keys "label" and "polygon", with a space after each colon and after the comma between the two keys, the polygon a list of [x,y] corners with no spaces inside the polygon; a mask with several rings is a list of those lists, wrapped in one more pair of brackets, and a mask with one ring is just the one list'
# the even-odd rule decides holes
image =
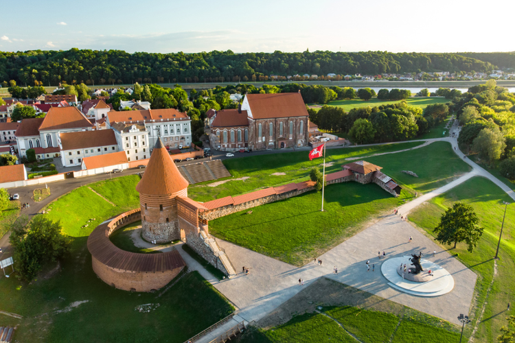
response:
{"label": "large lawn around the flagpole, extending right past the small corner tower", "polygon": [[[352,237],[369,220],[391,211],[404,200],[411,200],[415,191],[437,189],[470,171],[446,142],[364,159],[383,167],[385,174],[404,187],[399,198],[372,183],[328,185],[324,212],[319,211],[321,192],[311,191],[255,207],[251,215],[245,210],[211,220],[210,233],[286,263],[304,265]],[[414,171],[419,177],[404,174],[402,170]]]}

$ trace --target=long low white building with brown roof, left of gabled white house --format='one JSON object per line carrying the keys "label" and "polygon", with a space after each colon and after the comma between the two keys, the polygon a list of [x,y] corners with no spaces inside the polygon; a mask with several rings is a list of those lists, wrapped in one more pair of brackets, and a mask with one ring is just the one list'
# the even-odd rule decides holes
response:
{"label": "long low white building with brown roof, left of gabled white house", "polygon": [[59,134],[63,167],[82,165],[82,159],[118,152],[113,130],[63,132]]}

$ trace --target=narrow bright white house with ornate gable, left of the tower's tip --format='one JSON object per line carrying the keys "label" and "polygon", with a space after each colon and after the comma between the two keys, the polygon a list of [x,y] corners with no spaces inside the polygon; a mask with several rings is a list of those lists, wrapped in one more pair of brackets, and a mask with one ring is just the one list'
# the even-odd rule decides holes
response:
{"label": "narrow bright white house with ornate gable, left of the tower's tip", "polygon": [[126,153],[129,162],[150,158],[148,131],[144,123],[115,121],[111,128],[115,133],[118,150]]}

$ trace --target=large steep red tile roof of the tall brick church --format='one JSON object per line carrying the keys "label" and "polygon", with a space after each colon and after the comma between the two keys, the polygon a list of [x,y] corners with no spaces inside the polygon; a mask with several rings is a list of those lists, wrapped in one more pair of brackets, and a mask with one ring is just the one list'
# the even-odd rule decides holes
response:
{"label": "large steep red tile roof of the tall brick church", "polygon": [[300,93],[245,95],[255,119],[308,117],[308,110]]}

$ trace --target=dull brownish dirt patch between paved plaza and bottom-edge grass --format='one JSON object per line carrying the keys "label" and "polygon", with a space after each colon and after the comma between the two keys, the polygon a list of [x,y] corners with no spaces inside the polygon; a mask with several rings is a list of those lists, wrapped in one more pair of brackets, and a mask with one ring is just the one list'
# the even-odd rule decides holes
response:
{"label": "dull brownish dirt patch between paved plaza and bottom-edge grass", "polygon": [[400,315],[404,306],[324,277],[302,289],[258,322],[258,327],[271,329],[288,322],[293,316],[312,313],[318,306],[354,306],[362,309]]}

